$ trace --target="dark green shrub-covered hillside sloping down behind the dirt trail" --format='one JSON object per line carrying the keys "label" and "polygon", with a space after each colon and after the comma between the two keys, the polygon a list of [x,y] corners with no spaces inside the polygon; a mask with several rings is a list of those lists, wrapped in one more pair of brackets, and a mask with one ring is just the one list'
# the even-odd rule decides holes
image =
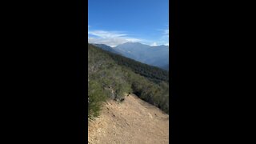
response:
{"label": "dark green shrub-covered hillside sloping down behind the dirt trail", "polygon": [[88,44],[88,114],[98,116],[106,98],[134,93],[169,114],[169,75],[165,70]]}

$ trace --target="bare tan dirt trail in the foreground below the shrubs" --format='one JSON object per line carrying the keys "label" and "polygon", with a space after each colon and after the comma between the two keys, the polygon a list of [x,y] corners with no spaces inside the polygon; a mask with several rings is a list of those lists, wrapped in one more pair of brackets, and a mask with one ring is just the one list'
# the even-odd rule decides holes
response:
{"label": "bare tan dirt trail in the foreground below the shrubs", "polygon": [[134,95],[122,103],[106,102],[89,122],[88,143],[169,143],[169,115]]}

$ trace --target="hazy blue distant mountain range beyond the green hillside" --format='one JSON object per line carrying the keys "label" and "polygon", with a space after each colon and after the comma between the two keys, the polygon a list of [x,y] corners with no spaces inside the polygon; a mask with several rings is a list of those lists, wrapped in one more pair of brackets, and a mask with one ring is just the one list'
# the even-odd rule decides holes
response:
{"label": "hazy blue distant mountain range beyond the green hillside", "polygon": [[148,46],[139,42],[126,42],[115,47],[104,44],[94,44],[94,46],[114,54],[121,54],[138,62],[158,66],[163,70],[169,70],[169,46]]}

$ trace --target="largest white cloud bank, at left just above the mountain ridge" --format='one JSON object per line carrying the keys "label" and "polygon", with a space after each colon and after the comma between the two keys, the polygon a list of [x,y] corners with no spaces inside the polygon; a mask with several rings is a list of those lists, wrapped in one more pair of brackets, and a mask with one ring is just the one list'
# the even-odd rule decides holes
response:
{"label": "largest white cloud bank, at left just above the mountain ridge", "polygon": [[118,31],[90,30],[88,34],[90,35],[88,42],[106,44],[112,47],[125,42],[142,42],[142,39],[130,38],[127,34]]}

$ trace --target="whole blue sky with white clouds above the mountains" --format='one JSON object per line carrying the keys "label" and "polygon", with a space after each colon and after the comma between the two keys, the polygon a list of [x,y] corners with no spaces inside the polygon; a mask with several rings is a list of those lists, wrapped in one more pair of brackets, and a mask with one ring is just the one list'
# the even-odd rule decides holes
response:
{"label": "whole blue sky with white clouds above the mountains", "polygon": [[88,0],[88,41],[169,46],[169,0]]}

